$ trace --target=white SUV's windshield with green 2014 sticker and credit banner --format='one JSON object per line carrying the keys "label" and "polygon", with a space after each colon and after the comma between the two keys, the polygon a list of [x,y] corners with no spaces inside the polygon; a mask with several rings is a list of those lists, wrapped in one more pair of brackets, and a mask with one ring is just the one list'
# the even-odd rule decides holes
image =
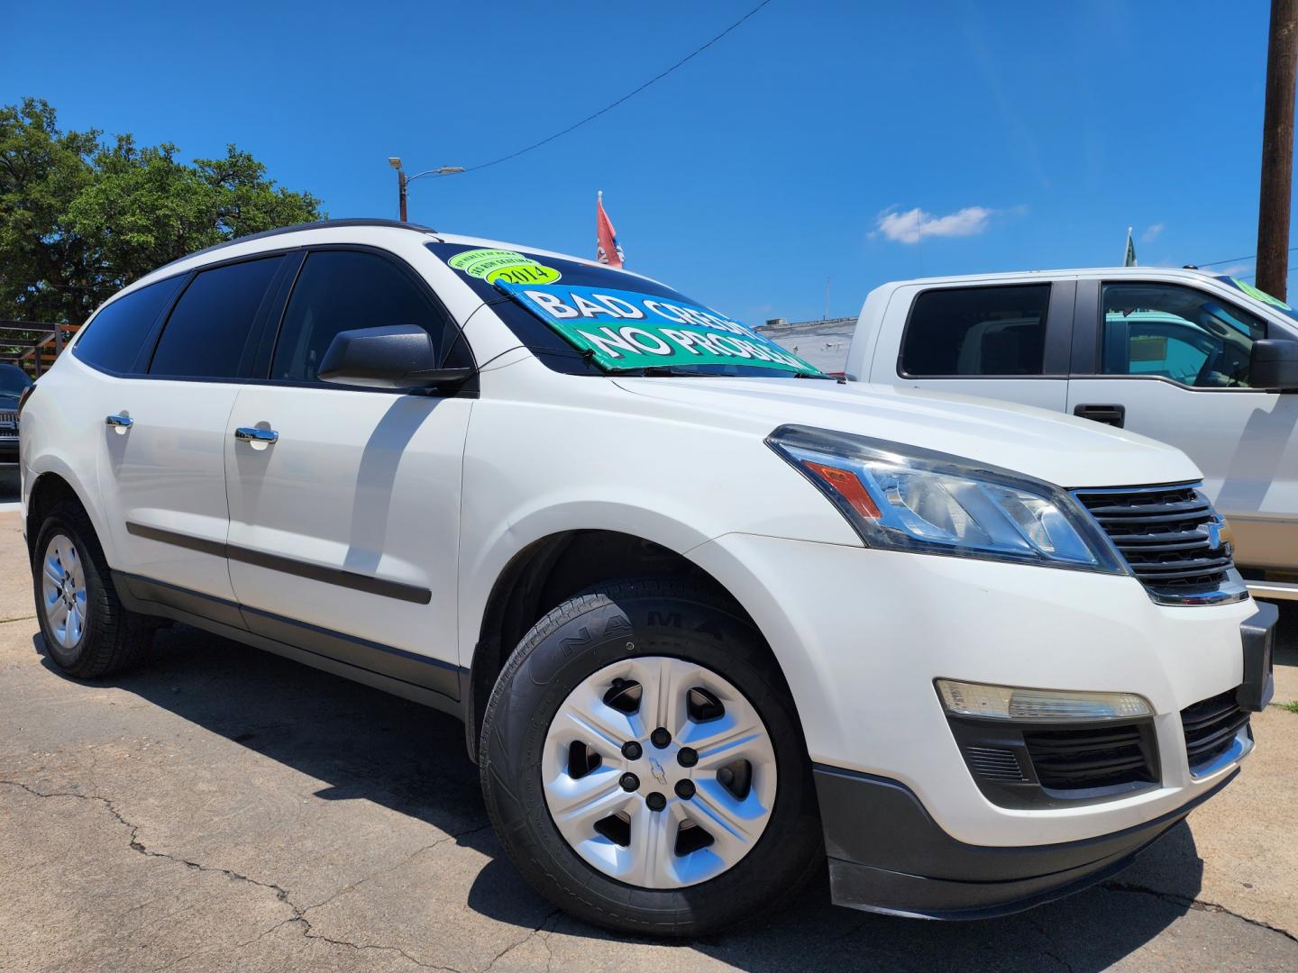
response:
{"label": "white SUV's windshield with green 2014 sticker and credit banner", "polygon": [[424,245],[559,371],[820,375],[733,318],[632,274],[526,250]]}

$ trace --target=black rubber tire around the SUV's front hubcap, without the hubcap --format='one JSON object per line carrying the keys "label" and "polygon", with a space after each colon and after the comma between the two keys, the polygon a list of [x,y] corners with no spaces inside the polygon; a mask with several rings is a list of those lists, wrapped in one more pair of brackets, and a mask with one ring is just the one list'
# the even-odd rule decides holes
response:
{"label": "black rubber tire around the SUV's front hubcap, without the hubcap", "polygon": [[[757,708],[775,747],[779,785],[766,830],[729,871],[698,885],[643,889],[598,872],[546,806],[540,767],[554,714],[583,680],[628,655],[683,658],[723,675]],[[541,619],[492,691],[479,767],[496,834],[527,881],[566,912],[620,933],[714,933],[778,908],[822,868],[811,767],[775,659],[748,620],[685,580],[601,585]]]}

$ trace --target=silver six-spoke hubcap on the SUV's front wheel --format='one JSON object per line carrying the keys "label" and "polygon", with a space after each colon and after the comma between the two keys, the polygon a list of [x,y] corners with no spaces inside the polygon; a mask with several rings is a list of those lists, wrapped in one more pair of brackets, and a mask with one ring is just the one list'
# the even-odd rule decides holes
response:
{"label": "silver six-spoke hubcap on the SUV's front wheel", "polygon": [[711,669],[667,656],[613,663],[574,689],[541,776],[567,843],[644,889],[733,868],[775,806],[775,750],[757,710]]}

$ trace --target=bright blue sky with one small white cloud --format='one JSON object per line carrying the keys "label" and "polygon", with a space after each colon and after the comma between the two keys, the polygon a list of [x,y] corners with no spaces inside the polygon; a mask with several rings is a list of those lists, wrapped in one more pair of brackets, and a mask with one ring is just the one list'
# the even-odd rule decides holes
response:
{"label": "bright blue sky with one small white cloud", "polygon": [[[65,127],[236,143],[332,217],[472,166],[652,78],[754,6],[6,4],[0,102]],[[665,80],[514,161],[411,186],[411,219],[594,252],[750,323],[855,314],[922,274],[1251,254],[1266,0],[772,3]],[[918,211],[916,211],[918,210]],[[1237,272],[1253,270],[1250,261]]]}

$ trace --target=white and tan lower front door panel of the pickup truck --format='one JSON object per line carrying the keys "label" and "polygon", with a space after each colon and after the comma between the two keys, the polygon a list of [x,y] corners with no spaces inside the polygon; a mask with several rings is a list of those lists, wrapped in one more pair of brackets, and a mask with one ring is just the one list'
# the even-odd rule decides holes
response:
{"label": "white and tan lower front door panel of the pickup truck", "polygon": [[1298,396],[1133,378],[1083,378],[1068,385],[1070,411],[1120,403],[1124,428],[1185,450],[1231,522],[1241,564],[1298,563]]}

